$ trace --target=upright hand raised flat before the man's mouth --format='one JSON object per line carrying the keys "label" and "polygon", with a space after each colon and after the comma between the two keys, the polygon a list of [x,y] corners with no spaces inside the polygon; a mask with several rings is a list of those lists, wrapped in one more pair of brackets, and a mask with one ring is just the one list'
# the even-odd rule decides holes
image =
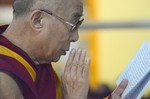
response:
{"label": "upright hand raised flat before the man's mouth", "polygon": [[64,99],[86,99],[90,59],[85,62],[86,51],[72,49],[62,76]]}

